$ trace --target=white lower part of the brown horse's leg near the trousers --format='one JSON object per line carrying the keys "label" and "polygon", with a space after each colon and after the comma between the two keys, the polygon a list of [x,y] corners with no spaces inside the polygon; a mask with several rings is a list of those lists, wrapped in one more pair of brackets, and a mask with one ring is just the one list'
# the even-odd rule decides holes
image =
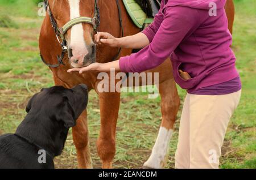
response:
{"label": "white lower part of the brown horse's leg near the trousers", "polygon": [[160,127],[158,138],[152,149],[150,158],[144,163],[147,168],[160,169],[166,165],[166,157],[168,156],[168,148],[170,139],[174,130],[167,130],[165,127]]}

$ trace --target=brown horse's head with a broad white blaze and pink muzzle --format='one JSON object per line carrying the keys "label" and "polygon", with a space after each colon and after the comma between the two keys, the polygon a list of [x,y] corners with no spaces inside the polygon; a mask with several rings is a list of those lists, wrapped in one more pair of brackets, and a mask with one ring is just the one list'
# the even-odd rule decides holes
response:
{"label": "brown horse's head with a broad white blaze and pink muzzle", "polygon": [[[67,28],[67,32],[63,33],[72,67],[88,66],[96,62],[96,45],[93,42],[95,32],[93,17],[95,18],[96,7],[97,2],[94,3],[92,0],[48,1],[48,10],[50,8],[58,29],[62,29],[67,23],[72,23]],[[92,23],[77,23],[76,19],[81,17],[90,19]]]}

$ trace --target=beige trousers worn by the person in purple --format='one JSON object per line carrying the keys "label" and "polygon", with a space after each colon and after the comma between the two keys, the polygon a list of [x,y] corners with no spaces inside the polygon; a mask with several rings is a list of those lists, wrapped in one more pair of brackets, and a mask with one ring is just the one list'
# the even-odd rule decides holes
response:
{"label": "beige trousers worn by the person in purple", "polygon": [[187,94],[181,114],[176,168],[218,168],[226,129],[241,91],[229,95]]}

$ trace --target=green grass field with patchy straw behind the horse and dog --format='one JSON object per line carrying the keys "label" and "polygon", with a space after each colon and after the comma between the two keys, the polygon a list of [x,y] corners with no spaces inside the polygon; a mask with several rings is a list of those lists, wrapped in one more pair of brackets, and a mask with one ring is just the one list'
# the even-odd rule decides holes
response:
{"label": "green grass field with patchy straw behind the horse and dog", "polygon": [[[40,60],[38,36],[42,17],[36,0],[0,0],[0,134],[14,132],[26,115],[28,99],[42,87],[53,85],[52,74]],[[256,168],[256,1],[236,0],[233,50],[242,78],[242,98],[233,115],[222,149],[221,168]],[[181,101],[185,91],[179,88]],[[114,168],[141,168],[150,155],[160,126],[160,98],[144,93],[123,93],[117,127]],[[127,108],[129,107],[129,108]],[[128,110],[127,110],[128,109]],[[96,139],[100,128],[97,95],[90,92],[88,106],[90,148],[94,168],[100,168]],[[174,168],[179,116],[170,143],[167,168]],[[57,168],[76,168],[71,133]]]}

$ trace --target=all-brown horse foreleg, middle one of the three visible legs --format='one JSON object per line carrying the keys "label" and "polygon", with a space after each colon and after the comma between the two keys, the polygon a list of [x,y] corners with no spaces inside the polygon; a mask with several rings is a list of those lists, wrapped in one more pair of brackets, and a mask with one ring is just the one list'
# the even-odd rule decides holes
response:
{"label": "all-brown horse foreleg, middle one of the three visible legs", "polygon": [[119,93],[99,93],[101,109],[100,137],[97,141],[102,168],[112,168],[115,156],[115,129],[120,104]]}

